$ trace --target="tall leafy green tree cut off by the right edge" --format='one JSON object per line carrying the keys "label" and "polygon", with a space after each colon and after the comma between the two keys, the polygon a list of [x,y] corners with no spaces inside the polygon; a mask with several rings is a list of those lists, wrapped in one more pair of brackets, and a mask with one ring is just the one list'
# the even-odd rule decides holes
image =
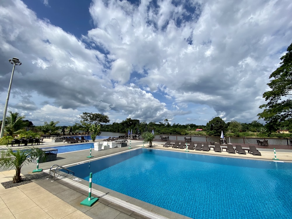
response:
{"label": "tall leafy green tree cut off by the right edge", "polygon": [[274,79],[267,84],[272,90],[263,93],[263,98],[268,102],[260,105],[260,109],[265,109],[258,114],[259,119],[263,118],[274,126],[292,118],[292,43],[281,60],[281,66],[270,75],[270,79]]}

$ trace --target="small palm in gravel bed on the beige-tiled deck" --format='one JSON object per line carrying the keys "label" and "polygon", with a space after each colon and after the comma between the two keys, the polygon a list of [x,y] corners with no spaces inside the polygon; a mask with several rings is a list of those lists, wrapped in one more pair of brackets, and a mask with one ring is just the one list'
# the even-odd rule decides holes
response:
{"label": "small palm in gravel bed on the beige-tiled deck", "polygon": [[26,147],[23,149],[16,149],[15,151],[13,151],[11,147],[7,147],[8,150],[1,151],[0,167],[4,169],[15,168],[13,183],[21,182],[20,171],[24,164],[34,162],[38,157],[39,159],[46,159],[45,152],[37,147]]}

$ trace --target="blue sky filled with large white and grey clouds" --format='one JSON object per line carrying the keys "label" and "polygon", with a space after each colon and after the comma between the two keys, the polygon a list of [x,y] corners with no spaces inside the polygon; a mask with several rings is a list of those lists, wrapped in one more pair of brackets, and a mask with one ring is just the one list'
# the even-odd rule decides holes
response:
{"label": "blue sky filled with large white and grey clouds", "polygon": [[16,57],[8,111],[36,126],[250,123],[291,14],[291,0],[0,0],[0,120]]}

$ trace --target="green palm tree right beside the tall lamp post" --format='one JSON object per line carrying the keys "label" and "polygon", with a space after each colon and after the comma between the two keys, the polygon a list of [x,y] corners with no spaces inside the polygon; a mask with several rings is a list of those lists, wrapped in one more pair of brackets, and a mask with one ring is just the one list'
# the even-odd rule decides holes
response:
{"label": "green palm tree right beside the tall lamp post", "polygon": [[4,131],[7,135],[13,136],[18,130],[23,128],[23,119],[25,116],[19,116],[18,112],[9,111],[10,116],[6,117],[6,126],[4,127]]}

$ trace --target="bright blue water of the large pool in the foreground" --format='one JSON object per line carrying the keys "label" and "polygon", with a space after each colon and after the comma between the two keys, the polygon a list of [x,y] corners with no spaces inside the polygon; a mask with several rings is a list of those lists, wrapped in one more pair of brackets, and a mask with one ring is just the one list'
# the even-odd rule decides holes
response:
{"label": "bright blue water of the large pool in the foreground", "polygon": [[292,164],[141,148],[75,176],[190,218],[292,218]]}

